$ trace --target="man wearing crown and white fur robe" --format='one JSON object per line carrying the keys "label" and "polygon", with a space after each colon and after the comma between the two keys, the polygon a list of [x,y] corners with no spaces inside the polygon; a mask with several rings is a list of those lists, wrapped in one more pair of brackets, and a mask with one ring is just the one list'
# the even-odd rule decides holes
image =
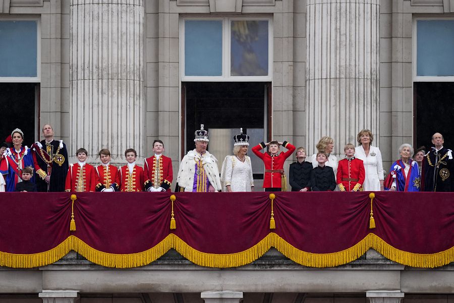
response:
{"label": "man wearing crown and white fur robe", "polygon": [[183,157],[178,171],[177,183],[184,192],[218,192],[221,190],[217,159],[210,154],[208,132],[200,125],[195,132],[195,146]]}

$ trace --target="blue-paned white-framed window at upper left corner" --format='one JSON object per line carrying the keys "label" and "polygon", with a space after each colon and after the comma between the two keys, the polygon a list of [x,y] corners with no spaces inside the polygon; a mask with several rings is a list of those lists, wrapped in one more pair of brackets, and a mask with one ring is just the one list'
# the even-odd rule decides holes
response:
{"label": "blue-paned white-framed window at upper left corner", "polygon": [[0,82],[39,82],[39,21],[0,19]]}

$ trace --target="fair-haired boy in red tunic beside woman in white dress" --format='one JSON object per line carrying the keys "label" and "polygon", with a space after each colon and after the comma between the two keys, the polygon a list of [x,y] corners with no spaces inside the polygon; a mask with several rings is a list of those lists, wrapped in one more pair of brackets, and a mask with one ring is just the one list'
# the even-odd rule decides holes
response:
{"label": "fair-haired boy in red tunic beside woman in white dress", "polygon": [[358,192],[366,177],[363,160],[354,157],[355,146],[353,144],[347,144],[344,152],[346,158],[339,161],[337,166],[337,185],[341,192]]}

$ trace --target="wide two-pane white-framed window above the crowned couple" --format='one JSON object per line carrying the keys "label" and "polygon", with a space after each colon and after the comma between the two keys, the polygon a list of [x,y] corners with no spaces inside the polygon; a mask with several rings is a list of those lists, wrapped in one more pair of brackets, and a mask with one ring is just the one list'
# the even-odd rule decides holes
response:
{"label": "wide two-pane white-framed window above the crowned couple", "polygon": [[182,81],[271,81],[270,17],[181,19]]}

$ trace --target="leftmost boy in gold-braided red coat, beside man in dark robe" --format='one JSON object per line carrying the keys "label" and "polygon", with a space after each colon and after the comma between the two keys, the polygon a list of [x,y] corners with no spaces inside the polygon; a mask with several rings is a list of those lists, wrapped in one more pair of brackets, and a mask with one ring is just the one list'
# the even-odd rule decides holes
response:
{"label": "leftmost boy in gold-braided red coat, beside man in dark robe", "polygon": [[94,167],[85,163],[88,158],[87,150],[79,148],[76,157],[79,161],[70,164],[66,175],[65,192],[94,192],[99,178]]}

